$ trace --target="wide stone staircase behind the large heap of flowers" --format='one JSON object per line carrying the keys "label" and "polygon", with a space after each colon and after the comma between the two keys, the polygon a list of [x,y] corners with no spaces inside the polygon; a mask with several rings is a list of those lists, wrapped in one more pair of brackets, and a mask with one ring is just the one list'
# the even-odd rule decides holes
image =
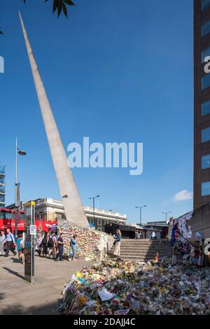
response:
{"label": "wide stone staircase behind the large heap of flowers", "polygon": [[[116,258],[113,255],[115,246],[111,248],[108,258]],[[150,239],[122,239],[120,246],[120,258],[125,261],[140,260],[148,261],[154,259],[155,253],[159,257],[172,257],[173,248],[167,239],[150,240]]]}

